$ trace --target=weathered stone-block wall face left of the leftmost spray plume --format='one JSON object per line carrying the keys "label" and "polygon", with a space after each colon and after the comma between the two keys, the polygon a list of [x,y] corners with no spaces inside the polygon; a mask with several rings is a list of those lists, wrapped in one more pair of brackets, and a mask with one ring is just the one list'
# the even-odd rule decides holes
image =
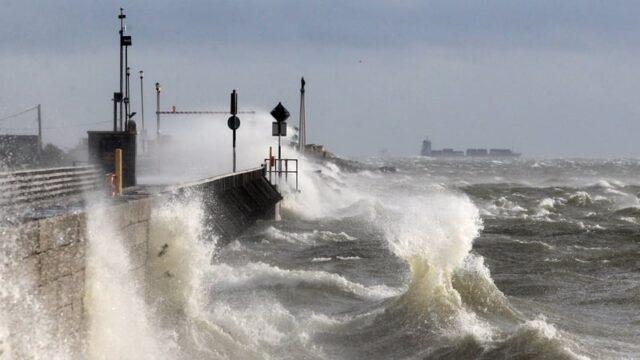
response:
{"label": "weathered stone-block wall face left of the leftmost spray plume", "polygon": [[[31,358],[38,337],[68,349],[81,346],[86,242],[86,214],[67,214],[1,229],[5,263],[3,285],[18,293],[8,314],[11,357]],[[13,280],[13,281],[11,281]],[[7,319],[3,319],[7,320]],[[38,334],[39,335],[39,334]],[[1,346],[0,346],[1,347]],[[3,350],[0,348],[0,353]]]}

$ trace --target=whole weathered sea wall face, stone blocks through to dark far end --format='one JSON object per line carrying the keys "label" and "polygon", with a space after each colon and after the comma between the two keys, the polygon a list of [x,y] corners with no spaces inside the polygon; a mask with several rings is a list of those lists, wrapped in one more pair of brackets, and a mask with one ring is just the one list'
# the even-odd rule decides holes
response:
{"label": "whole weathered sea wall face, stone blocks through to dark far end", "polygon": [[[174,186],[155,195],[123,197],[101,214],[108,217],[105,221],[122,239],[136,273],[134,278],[145,281],[147,261],[158,255],[151,254],[156,249],[149,246],[152,209],[189,196],[202,199],[205,221],[223,242],[258,219],[273,219],[281,200],[262,169]],[[14,301],[3,309],[9,314],[9,319],[4,319],[9,323],[0,324],[8,332],[5,341],[0,342],[0,358],[3,354],[10,354],[11,358],[32,357],[29,354],[34,352],[34,339],[40,334],[36,333],[37,326],[25,323],[29,321],[46,322],[44,332],[50,338],[47,343],[63,345],[72,354],[80,353],[86,337],[85,269],[91,211],[0,228],[1,241],[5,242],[4,268],[9,269],[3,275],[15,278],[19,288]],[[6,245],[9,242],[11,246]],[[11,300],[10,296],[7,298]]]}

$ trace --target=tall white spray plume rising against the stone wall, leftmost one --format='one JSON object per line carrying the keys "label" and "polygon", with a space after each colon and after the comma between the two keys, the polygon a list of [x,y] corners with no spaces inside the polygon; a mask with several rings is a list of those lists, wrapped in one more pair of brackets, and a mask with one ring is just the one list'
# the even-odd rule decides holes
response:
{"label": "tall white spray plume rising against the stone wall, leftmost one", "polygon": [[172,342],[152,318],[123,239],[104,207],[87,220],[87,353],[94,359],[167,358]]}

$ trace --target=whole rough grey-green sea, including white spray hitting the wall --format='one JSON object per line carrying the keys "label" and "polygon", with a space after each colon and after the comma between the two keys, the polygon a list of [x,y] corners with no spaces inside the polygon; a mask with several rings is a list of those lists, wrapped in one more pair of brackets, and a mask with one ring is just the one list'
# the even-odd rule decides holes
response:
{"label": "whole rough grey-green sea, including white spray hitting the wall", "polygon": [[640,358],[640,161],[363,161],[398,171],[305,160],[228,244],[199,199],[153,209],[144,282],[89,219],[86,349],[33,357]]}

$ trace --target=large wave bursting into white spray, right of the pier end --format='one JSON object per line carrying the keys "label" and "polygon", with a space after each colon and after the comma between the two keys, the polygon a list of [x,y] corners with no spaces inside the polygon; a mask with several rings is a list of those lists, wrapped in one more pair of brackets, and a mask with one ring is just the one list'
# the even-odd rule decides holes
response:
{"label": "large wave bursting into white spray, right of the pier end", "polygon": [[[316,173],[325,175],[305,179],[313,186],[311,198],[305,188],[287,199],[285,209],[315,220],[359,217],[382,231],[389,250],[410,269],[401,294],[333,329],[348,339],[345,346],[357,349],[336,354],[576,357],[560,331],[543,318],[528,320],[519,313],[494,284],[482,257],[471,252],[483,225],[466,195],[437,184],[411,184],[402,176],[380,187],[369,177],[317,166]],[[332,184],[340,185],[337,201]],[[581,200],[577,205],[587,202]]]}

